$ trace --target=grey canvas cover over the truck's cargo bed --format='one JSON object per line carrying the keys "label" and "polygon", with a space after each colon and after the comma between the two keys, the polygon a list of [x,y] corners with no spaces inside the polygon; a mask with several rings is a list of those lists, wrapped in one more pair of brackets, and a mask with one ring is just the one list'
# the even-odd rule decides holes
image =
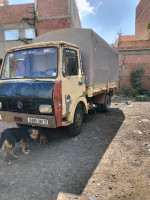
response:
{"label": "grey canvas cover over the truck's cargo bed", "polygon": [[118,81],[118,52],[91,29],[69,28],[43,34],[33,43],[65,41],[81,48],[86,86]]}

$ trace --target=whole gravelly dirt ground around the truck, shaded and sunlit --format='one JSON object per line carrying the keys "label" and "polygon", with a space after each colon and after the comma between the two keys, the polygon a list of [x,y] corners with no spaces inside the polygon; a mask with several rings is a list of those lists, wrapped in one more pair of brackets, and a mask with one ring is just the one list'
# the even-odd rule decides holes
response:
{"label": "whole gravelly dirt ground around the truck, shaded and sunlit", "polygon": [[[15,124],[0,123],[1,131]],[[45,130],[46,131],[46,130]],[[109,113],[91,113],[82,133],[49,131],[49,142],[29,142],[6,162],[0,153],[0,199],[149,200],[150,102],[116,97]]]}

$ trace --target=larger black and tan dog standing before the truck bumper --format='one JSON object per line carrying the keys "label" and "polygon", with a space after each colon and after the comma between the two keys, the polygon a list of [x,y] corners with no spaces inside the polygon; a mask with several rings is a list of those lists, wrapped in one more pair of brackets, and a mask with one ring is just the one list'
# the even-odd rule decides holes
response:
{"label": "larger black and tan dog standing before the truck bumper", "polygon": [[37,139],[38,138],[39,131],[35,129],[27,129],[27,128],[8,128],[5,129],[1,133],[1,138],[0,138],[0,149],[4,151],[4,157],[5,160],[8,160],[7,157],[7,148],[10,149],[10,155],[13,156],[14,158],[18,158],[14,154],[14,147],[15,143],[20,142],[21,147],[22,147],[22,152],[24,154],[29,154],[25,150],[26,142],[29,139]]}

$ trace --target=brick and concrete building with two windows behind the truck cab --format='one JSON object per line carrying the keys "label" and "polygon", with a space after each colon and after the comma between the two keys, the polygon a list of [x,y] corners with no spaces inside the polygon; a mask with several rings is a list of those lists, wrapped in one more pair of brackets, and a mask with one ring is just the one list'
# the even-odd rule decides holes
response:
{"label": "brick and concrete building with two windows behind the truck cab", "polygon": [[75,0],[35,0],[34,3],[9,5],[0,0],[0,58],[4,50],[31,43],[47,31],[80,28]]}

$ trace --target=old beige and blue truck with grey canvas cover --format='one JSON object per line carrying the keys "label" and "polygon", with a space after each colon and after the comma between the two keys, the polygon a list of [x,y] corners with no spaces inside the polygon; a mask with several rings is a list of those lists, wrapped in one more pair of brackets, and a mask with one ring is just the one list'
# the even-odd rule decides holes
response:
{"label": "old beige and blue truck with grey canvas cover", "polygon": [[118,84],[118,53],[91,29],[62,29],[5,52],[0,120],[81,132],[93,106],[107,112]]}

